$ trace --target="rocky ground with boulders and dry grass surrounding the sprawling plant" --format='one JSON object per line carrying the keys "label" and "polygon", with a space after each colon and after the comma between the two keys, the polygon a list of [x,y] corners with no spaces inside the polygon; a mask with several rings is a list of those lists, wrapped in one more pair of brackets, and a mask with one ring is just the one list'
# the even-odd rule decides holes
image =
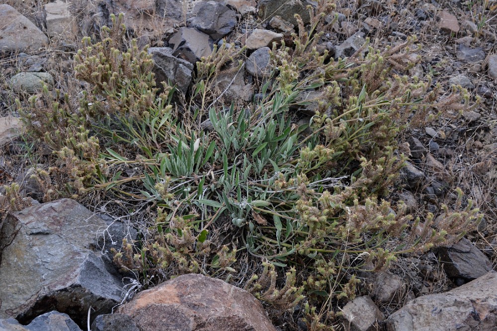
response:
{"label": "rocky ground with boulders and dry grass surrounding the sprawling plant", "polygon": [[[98,36],[111,13],[124,12],[127,34],[140,49],[150,47],[156,78],[170,80],[185,94],[191,92],[196,62],[214,45],[245,46],[244,66],[223,69],[216,86],[224,99],[248,102],[254,94],[257,98],[271,70],[273,42],[292,43],[291,33],[299,29],[294,14],[309,23],[308,4],[315,5],[284,0],[0,4],[0,184],[15,181],[21,194],[33,199],[32,206],[1,218],[0,329],[314,330],[300,321],[274,316],[270,321],[248,292],[200,275],[183,275],[125,303],[141,285],[116,269],[110,250],[119,249],[123,238],[136,240],[137,229],[96,216],[94,211],[103,210],[100,201],[82,199],[85,206],[72,199],[37,201],[46,197],[30,169],[43,166],[44,158],[29,152],[14,101],[28,102],[44,84],[51,90],[80,88],[73,57],[82,37]],[[403,184],[388,198],[405,201],[414,215],[431,212],[437,222],[444,217],[441,205],[454,204],[459,187],[484,215],[478,228],[454,245],[399,259],[389,271],[365,279],[369,285],[357,298],[337,308],[343,317],[335,327],[495,330],[497,2],[337,1],[325,20],[331,24],[319,52],[337,59],[367,51],[361,49],[366,38],[374,49],[383,49],[415,36],[419,49],[412,56],[421,59],[409,74],[430,75],[443,89],[460,85],[469,91],[472,109],[461,116],[448,111],[401,137],[399,149],[409,160]],[[300,117],[308,121],[310,115]],[[203,123],[204,130],[209,126],[209,120]]]}

